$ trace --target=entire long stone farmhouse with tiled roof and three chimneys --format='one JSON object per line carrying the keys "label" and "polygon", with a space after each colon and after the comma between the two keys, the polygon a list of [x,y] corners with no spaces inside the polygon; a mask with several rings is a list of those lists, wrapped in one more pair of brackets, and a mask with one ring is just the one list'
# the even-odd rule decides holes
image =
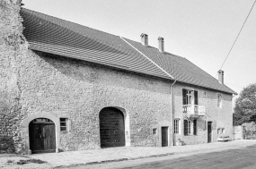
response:
{"label": "entire long stone farmhouse with tiled roof and three chimneys", "polygon": [[184,57],[2,0],[0,152],[172,147],[232,137],[234,90]]}

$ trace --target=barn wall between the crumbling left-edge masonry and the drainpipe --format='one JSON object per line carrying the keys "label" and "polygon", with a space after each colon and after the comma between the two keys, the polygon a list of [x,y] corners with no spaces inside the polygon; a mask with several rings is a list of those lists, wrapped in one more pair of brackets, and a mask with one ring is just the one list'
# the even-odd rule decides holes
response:
{"label": "barn wall between the crumbling left-edge masonry and the drainpipe", "polygon": [[99,113],[108,106],[128,115],[131,146],[161,145],[152,133],[158,124],[170,126],[171,138],[170,81],[31,50],[21,64],[22,115],[69,119],[68,131],[57,129],[60,150],[100,148]]}

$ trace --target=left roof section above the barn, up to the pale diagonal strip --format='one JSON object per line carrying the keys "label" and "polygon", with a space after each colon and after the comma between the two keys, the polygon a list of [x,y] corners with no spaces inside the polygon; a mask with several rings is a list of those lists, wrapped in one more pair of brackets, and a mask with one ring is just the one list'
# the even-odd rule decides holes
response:
{"label": "left roof section above the barn, up to the pale diagonal strip", "polygon": [[21,15],[31,49],[172,79],[118,36],[24,8]]}

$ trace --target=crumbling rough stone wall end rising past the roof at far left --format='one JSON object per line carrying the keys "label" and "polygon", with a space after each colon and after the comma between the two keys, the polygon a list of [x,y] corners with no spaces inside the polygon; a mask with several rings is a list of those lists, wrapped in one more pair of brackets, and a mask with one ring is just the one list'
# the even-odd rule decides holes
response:
{"label": "crumbling rough stone wall end rising past the roof at far left", "polygon": [[0,153],[11,153],[20,141],[19,63],[28,44],[22,35],[19,0],[0,0]]}

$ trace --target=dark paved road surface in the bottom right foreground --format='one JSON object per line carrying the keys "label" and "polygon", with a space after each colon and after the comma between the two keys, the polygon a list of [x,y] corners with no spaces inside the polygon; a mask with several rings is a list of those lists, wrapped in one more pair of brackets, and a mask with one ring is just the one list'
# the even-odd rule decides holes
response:
{"label": "dark paved road surface in the bottom right foreground", "polygon": [[154,168],[175,168],[175,169],[256,169],[256,145],[247,148],[229,149],[219,152],[211,152],[183,156],[162,156],[154,158],[145,158],[138,160],[129,160],[121,162],[106,163],[100,165],[84,165],[72,168],[124,168],[124,169],[154,169]]}

